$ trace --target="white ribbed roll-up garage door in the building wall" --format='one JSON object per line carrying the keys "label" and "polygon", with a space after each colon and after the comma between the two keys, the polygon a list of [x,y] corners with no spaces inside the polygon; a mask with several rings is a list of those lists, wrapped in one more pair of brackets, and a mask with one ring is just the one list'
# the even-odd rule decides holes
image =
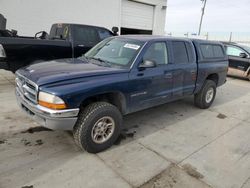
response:
{"label": "white ribbed roll-up garage door in the building wall", "polygon": [[154,6],[143,3],[122,1],[122,27],[152,30]]}

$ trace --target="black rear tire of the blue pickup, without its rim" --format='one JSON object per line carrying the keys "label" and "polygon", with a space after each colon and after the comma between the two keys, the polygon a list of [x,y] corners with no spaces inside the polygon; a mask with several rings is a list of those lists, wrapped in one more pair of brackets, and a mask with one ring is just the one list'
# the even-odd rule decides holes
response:
{"label": "black rear tire of the blue pickup, without its rim", "polygon": [[[212,100],[208,103],[208,102],[206,102],[206,95],[207,95],[207,92],[209,91],[209,89],[211,89],[211,88],[213,88],[213,90],[214,90],[214,95],[213,95]],[[216,96],[216,83],[213,80],[206,80],[205,83],[203,84],[201,90],[199,91],[199,93],[195,94],[194,104],[195,104],[195,106],[197,106],[201,109],[207,109],[212,105],[215,96]]]}

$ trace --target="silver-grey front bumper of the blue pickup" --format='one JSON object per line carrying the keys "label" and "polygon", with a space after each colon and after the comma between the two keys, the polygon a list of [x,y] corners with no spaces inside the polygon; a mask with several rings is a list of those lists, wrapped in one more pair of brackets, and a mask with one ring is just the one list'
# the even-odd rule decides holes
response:
{"label": "silver-grey front bumper of the blue pickup", "polygon": [[52,110],[29,102],[16,87],[17,103],[33,120],[49,129],[73,130],[79,109]]}

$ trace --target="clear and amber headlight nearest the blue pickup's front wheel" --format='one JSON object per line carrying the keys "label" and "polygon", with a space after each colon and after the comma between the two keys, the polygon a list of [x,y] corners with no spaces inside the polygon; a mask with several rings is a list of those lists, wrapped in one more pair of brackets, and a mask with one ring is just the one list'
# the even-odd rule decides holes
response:
{"label": "clear and amber headlight nearest the blue pickup's front wheel", "polygon": [[66,105],[61,98],[43,91],[39,92],[38,104],[54,110],[61,110],[66,108]]}

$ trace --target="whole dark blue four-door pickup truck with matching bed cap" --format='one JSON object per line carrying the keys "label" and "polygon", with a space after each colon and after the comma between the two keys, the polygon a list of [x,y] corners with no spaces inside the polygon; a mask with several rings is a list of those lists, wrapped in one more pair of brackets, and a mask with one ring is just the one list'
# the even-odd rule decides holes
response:
{"label": "whole dark blue four-door pickup truck with matching bed cap", "polygon": [[16,96],[37,122],[72,130],[77,145],[97,153],[116,141],[123,115],[190,95],[197,107],[210,107],[227,69],[219,42],[118,36],[79,58],[18,70]]}

